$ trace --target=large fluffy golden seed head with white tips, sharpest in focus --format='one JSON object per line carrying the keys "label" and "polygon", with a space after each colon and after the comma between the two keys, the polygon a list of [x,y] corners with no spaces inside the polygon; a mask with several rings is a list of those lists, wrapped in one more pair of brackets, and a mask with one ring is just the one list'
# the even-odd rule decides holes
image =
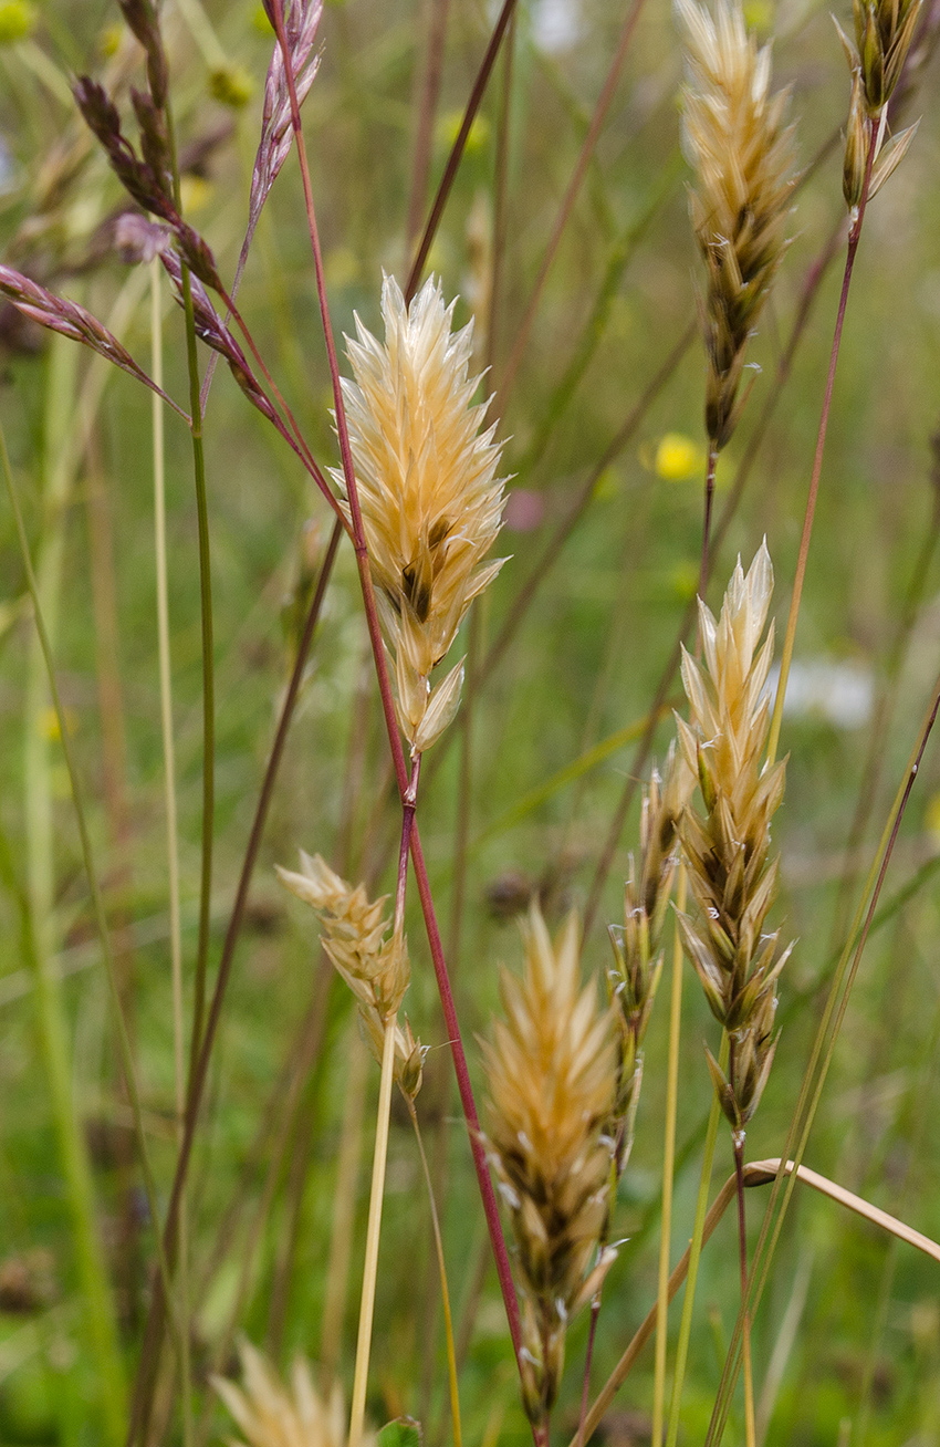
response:
{"label": "large fluffy golden seed head with white tips, sharpest in focus", "polygon": [[[343,382],[369,559],[382,627],[395,658],[399,722],[422,754],[453,719],[463,666],[431,687],[473,599],[505,559],[483,563],[502,524],[496,424],[473,404],[473,323],[451,331],[431,278],[411,305],[392,276],[382,287],[385,343],[363,327],[347,337],[356,381]],[[343,478],[337,473],[343,486]]]}

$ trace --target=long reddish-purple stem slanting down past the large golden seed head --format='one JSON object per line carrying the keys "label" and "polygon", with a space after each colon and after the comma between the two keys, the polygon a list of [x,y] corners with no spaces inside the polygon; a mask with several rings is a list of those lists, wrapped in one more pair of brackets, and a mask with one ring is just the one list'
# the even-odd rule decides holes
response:
{"label": "long reddish-purple stem slanting down past the large golden seed head", "polygon": [[[512,0],[506,0],[506,7],[512,4]],[[278,33],[278,41],[285,52],[286,58],[286,38],[283,32],[283,12],[281,0],[272,0],[275,30]],[[340,456],[343,462],[343,476],[347,488],[350,515],[353,522],[353,547],[356,553],[356,566],[359,569],[359,579],[363,593],[363,605],[366,611],[366,624],[369,628],[369,640],[372,642],[372,653],[376,666],[376,674],[379,680],[379,696],[382,699],[382,712],[385,715],[385,725],[389,735],[389,745],[392,750],[392,761],[395,765],[395,777],[398,781],[398,789],[405,800],[408,790],[408,770],[405,765],[405,752],[402,748],[402,741],[398,732],[398,719],[395,716],[395,700],[392,696],[392,686],[388,673],[388,664],[385,657],[385,645],[382,642],[382,632],[379,628],[379,614],[376,608],[375,590],[372,585],[372,572],[369,567],[369,550],[366,547],[366,538],[363,531],[362,509],[359,505],[359,492],[356,488],[356,473],[353,469],[353,453],[349,440],[349,428],[346,424],[346,408],[343,405],[343,388],[340,383],[340,369],[336,356],[336,343],[333,339],[333,323],[330,320],[330,305],[327,301],[327,287],[322,271],[322,255],[320,249],[320,233],[317,229],[317,214],[314,210],[314,197],[309,182],[309,168],[307,165],[307,148],[304,145],[304,132],[301,127],[301,113],[296,104],[296,93],[294,88],[294,81],[291,75],[289,65],[286,67],[286,81],[291,94],[291,116],[294,123],[294,133],[296,140],[298,162],[301,166],[301,178],[304,184],[304,200],[307,205],[307,221],[309,229],[309,240],[314,253],[314,271],[317,275],[317,295],[320,302],[320,314],[322,321],[324,341],[327,347],[327,360],[330,365],[330,379],[333,385],[333,401],[336,407],[336,423],[337,433],[340,437]],[[464,1108],[464,1117],[467,1120],[467,1132],[470,1134],[470,1146],[473,1150],[473,1160],[477,1172],[477,1181],[480,1185],[480,1194],[483,1198],[483,1210],[486,1214],[487,1227],[490,1231],[490,1240],[493,1243],[493,1255],[496,1256],[496,1269],[499,1275],[499,1283],[503,1294],[503,1302],[506,1305],[506,1317],[509,1321],[509,1331],[512,1334],[512,1344],[516,1354],[516,1362],[519,1360],[521,1350],[521,1328],[519,1328],[519,1305],[515,1295],[515,1288],[512,1283],[512,1270],[509,1266],[509,1253],[506,1250],[506,1242],[502,1231],[502,1223],[499,1220],[499,1208],[496,1205],[496,1192],[493,1191],[493,1182],[489,1175],[489,1166],[486,1163],[486,1153],[480,1142],[480,1121],[476,1110],[476,1101],[473,1098],[473,1087],[470,1084],[470,1072],[467,1069],[467,1062],[463,1051],[463,1039],[460,1033],[460,1024],[457,1019],[457,1009],[454,1006],[454,997],[450,987],[450,978],[447,974],[447,962],[444,959],[444,949],[441,945],[440,929],[437,923],[437,916],[434,912],[434,901],[431,899],[431,887],[428,883],[427,865],[424,862],[424,852],[421,849],[421,835],[418,832],[416,822],[411,831],[411,854],[415,868],[415,878],[418,884],[418,894],[421,897],[421,909],[424,913],[425,930],[428,933],[428,943],[431,946],[431,958],[434,961],[434,972],[437,977],[438,991],[441,994],[441,1003],[444,1007],[444,1022],[447,1026],[447,1033],[451,1045],[451,1052],[454,1056],[454,1069],[457,1074],[457,1087],[460,1091],[460,1100]]]}

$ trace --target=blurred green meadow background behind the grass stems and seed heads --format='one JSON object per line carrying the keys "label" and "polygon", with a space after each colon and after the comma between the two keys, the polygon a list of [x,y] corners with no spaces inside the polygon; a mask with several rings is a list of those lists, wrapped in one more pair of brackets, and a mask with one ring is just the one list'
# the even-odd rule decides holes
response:
{"label": "blurred green meadow background behind the grass stems and seed heads", "polygon": [[[428,271],[457,318],[477,311],[479,366],[508,438],[513,475],[499,551],[512,554],[463,641],[471,666],[509,619],[515,634],[438,745],[419,818],[450,946],[456,991],[480,1085],[474,1035],[486,1032],[500,962],[518,965],[510,904],[538,887],[560,919],[584,907],[610,820],[633,768],[623,731],[644,721],[696,586],[701,531],[703,378],[698,337],[636,418],[612,441],[694,323],[701,272],[687,220],[680,153],[681,56],[670,7],[646,0],[584,184],[564,232],[528,340],[513,357],[529,298],[587,135],[628,6],[594,0],[519,3]],[[937,23],[936,6],[928,19]],[[428,35],[443,7],[328,3],[320,74],[304,109],[325,269],[338,331],[357,311],[379,327],[385,268],[403,278],[409,197]],[[792,245],[749,359],[753,391],[722,454],[727,504],[751,440],[759,451],[720,548],[714,608],[740,551],[764,535],[777,572],[782,625],[842,275],[842,246],[819,289],[785,385],[778,366],[807,278],[845,226],[839,127],[849,84],[829,9],[755,0],[749,22],[774,39],[775,80],[791,88],[801,166]],[[850,16],[840,13],[843,25]],[[234,271],[257,143],[270,27],[252,0],[163,6],[184,161],[187,216]],[[451,4],[430,133],[430,174],[416,197],[427,216],[457,133],[495,13]],[[43,0],[0,4],[0,259],[108,321],[148,365],[148,275],[117,258],[108,218],[126,203],[87,137],[68,91],[72,74],[110,77],[127,111],[140,58],[114,4]],[[506,55],[510,54],[510,65]],[[774,920],[798,946],[781,983],[777,1064],[748,1139],[753,1159],[778,1155],[819,1020],[833,955],[855,907],[940,667],[940,67],[928,62],[907,100],[923,113],[914,146],[872,204],[849,300],[819,515],[797,637],[794,706],[785,716],[788,789],[778,815],[782,890]],[[133,132],[133,123],[129,123]],[[500,191],[500,175],[503,187]],[[414,242],[414,237],[412,237]],[[493,304],[492,298],[495,297]],[[185,398],[181,315],[165,300],[168,389]],[[317,313],[295,158],[262,218],[240,305],[305,430],[336,466],[330,378]],[[90,355],[0,313],[0,417],[36,556],[61,548],[55,651],[72,741],[91,800],[133,1023],[145,1117],[161,1205],[174,1166],[166,858],[152,541],[150,401]],[[508,368],[512,385],[506,386]],[[518,366],[516,366],[518,363]],[[202,357],[205,365],[205,357]],[[100,383],[95,376],[101,372]],[[90,388],[101,385],[95,401]],[[764,410],[774,402],[762,424]],[[276,709],[291,663],[285,599],[304,557],[322,556],[327,509],[294,456],[244,404],[221,368],[207,420],[215,587],[217,862],[213,954],[218,956]],[[607,459],[607,460],[604,460]],[[58,469],[58,470],[56,470]],[[593,479],[593,482],[591,482]],[[56,492],[58,489],[58,492]],[[522,583],[576,496],[586,506],[525,615]],[[201,809],[200,590],[189,443],[168,420],[172,663],[184,887],[184,964],[195,949]],[[9,508],[0,508],[0,825],[12,878],[0,900],[0,1444],[101,1440],[95,1360],[88,1351],[74,1242],[36,1045],[33,978],[19,942],[30,790],[25,760],[40,741],[52,792],[52,888],[45,923],[61,974],[71,1088],[91,1152],[129,1373],[136,1360],[153,1256],[130,1117],[119,1085],[107,988],[69,800],[48,706],[25,690],[32,611]],[[677,682],[670,687],[677,699]],[[26,705],[25,705],[26,697]],[[32,702],[30,702],[32,699]],[[885,703],[889,700],[889,705]],[[657,735],[665,751],[668,716]],[[591,754],[604,741],[612,747]],[[872,742],[873,739],[873,742]],[[45,741],[45,744],[43,744]],[[298,846],[344,860],[353,878],[379,870],[389,888],[396,806],[372,686],[353,556],[343,547],[295,719],[223,1030],[192,1175],[191,1259],[200,1440],[230,1422],[208,1388],[236,1370],[234,1333],[286,1366],[322,1341],[337,1156],[350,1130],[372,1143],[372,1092],[350,1123],[347,1081],[357,1049],[351,1001],[327,996],[312,920],[278,888],[273,862]],[[590,767],[587,767],[590,765]],[[868,822],[850,854],[852,820]],[[454,880],[463,877],[463,909]],[[636,839],[628,816],[603,886],[586,968],[602,971],[604,923],[622,915],[622,880]],[[858,831],[856,831],[858,835]],[[884,900],[891,909],[862,961],[807,1162],[911,1226],[940,1236],[936,1079],[940,758],[928,748]],[[409,910],[414,901],[409,903]],[[431,1045],[418,1100],[441,1192],[450,1285],[463,1323],[464,1434],[484,1447],[524,1443],[509,1340],[487,1268],[483,1218],[466,1132],[450,1088],[419,915],[409,913],[414,984],[408,1013]],[[314,1004],[311,1006],[311,1000]],[[320,1011],[320,1013],[317,1013]],[[665,1092],[665,990],[646,1048],[638,1136],[615,1234],[625,1239],[604,1289],[594,1382],[655,1297]],[[317,1032],[320,1035],[317,1036]],[[680,1095],[674,1259],[691,1233],[700,1142],[709,1107],[701,1042],[716,1030],[687,978]],[[318,1048],[314,1049],[318,1039]],[[305,1053],[307,1052],[307,1053]],[[311,1064],[312,1061],[312,1064]],[[716,1182],[730,1171],[719,1139]],[[367,1169],[359,1175],[353,1281],[341,1373],[351,1376]],[[762,1198],[749,1197],[756,1227]],[[704,1252],[685,1393],[683,1441],[700,1443],[735,1323],[736,1246],[726,1221]],[[869,1447],[940,1441],[940,1275],[832,1202],[800,1191],[771,1288],[755,1324],[768,1443]],[[437,1268],[427,1198],[405,1114],[395,1117],[377,1331],[369,1411],[408,1412],[425,1440],[448,1431]],[[586,1320],[568,1347],[557,1440],[577,1424]],[[652,1353],[642,1356],[604,1425],[626,1447],[649,1433]],[[166,1440],[179,1440],[171,1414]],[[743,1440],[732,1418],[726,1441]]]}

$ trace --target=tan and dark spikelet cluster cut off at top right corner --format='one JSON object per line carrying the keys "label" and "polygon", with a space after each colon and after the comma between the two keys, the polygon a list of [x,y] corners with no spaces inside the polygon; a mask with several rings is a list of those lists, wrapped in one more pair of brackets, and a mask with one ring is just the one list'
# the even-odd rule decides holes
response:
{"label": "tan and dark spikelet cluster cut off at top right corner", "polygon": [[852,97],[846,126],[846,156],[842,190],[855,210],[862,200],[869,143],[875,145],[868,187],[869,201],[904,159],[920,122],[898,132],[885,143],[885,132],[875,123],[901,80],[914,39],[923,0],[852,0],[855,43],[836,20],[836,29],[852,72]]}

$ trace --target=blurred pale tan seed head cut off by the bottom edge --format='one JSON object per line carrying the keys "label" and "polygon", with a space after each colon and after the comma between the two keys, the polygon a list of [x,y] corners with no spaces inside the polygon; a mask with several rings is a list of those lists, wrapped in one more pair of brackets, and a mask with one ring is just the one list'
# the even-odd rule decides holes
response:
{"label": "blurred pale tan seed head cut off by the bottom edge", "polygon": [[[324,1401],[302,1357],[295,1357],[291,1385],[285,1386],[270,1362],[249,1341],[239,1350],[243,1385],[213,1378],[213,1386],[244,1438],[228,1438],[230,1447],[346,1447],[346,1411],[338,1383]],[[362,1441],[363,1447],[375,1447],[375,1434]]]}

